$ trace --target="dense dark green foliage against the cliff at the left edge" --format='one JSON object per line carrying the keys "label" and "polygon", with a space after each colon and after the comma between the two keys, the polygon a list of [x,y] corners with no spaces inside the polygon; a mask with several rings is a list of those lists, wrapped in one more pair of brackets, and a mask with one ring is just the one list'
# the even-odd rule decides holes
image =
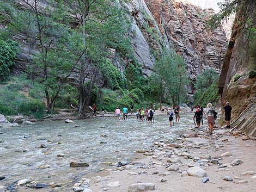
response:
{"label": "dense dark green foliage against the cliff at the left edge", "polygon": [[10,73],[10,67],[14,65],[17,53],[17,43],[12,40],[0,40],[0,77]]}

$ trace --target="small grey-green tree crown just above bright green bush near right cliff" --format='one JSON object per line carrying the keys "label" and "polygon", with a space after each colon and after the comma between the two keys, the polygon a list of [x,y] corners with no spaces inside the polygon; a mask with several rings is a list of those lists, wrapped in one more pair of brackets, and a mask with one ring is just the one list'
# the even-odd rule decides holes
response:
{"label": "small grey-green tree crown just above bright green bush near right cliff", "polygon": [[218,73],[213,69],[206,69],[197,77],[196,89],[201,93],[204,92],[209,86],[218,78]]}

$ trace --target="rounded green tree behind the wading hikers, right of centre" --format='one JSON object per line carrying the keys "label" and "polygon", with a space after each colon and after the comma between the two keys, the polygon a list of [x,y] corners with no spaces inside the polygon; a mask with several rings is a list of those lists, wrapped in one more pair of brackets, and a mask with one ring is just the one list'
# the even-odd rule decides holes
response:
{"label": "rounded green tree behind the wading hikers, right of centre", "polygon": [[156,61],[154,66],[155,74],[151,79],[154,80],[155,89],[159,91],[159,102],[162,104],[162,98],[172,102],[173,106],[180,104],[182,98],[186,95],[185,85],[188,83],[188,75],[184,60],[175,52],[163,51],[160,60]]}

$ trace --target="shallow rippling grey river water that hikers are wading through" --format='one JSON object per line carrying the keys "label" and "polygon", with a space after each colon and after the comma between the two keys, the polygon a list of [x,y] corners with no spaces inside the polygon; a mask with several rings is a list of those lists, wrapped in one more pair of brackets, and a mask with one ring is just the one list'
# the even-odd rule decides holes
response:
{"label": "shallow rippling grey river water that hikers are wading through", "polygon": [[[37,122],[34,125],[1,128],[0,184],[31,178],[36,182],[70,183],[75,177],[109,168],[104,162],[117,163],[123,158],[135,158],[135,151],[153,146],[163,139],[170,141],[191,127],[192,114],[181,114],[180,122],[170,129],[167,115],[155,115],[155,124],[117,121],[114,117]],[[107,137],[101,137],[107,135]],[[40,148],[44,143],[48,147]],[[64,157],[57,157],[64,153]],[[70,168],[72,160],[89,163],[88,168]],[[45,165],[48,168],[41,169]]]}

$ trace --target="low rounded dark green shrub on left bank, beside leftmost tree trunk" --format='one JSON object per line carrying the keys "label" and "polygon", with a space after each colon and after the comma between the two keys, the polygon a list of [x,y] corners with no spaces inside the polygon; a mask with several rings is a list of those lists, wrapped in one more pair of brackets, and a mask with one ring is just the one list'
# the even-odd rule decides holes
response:
{"label": "low rounded dark green shrub on left bank, beside leftmost tree trunk", "polygon": [[42,101],[39,100],[32,100],[21,103],[18,108],[17,112],[23,115],[33,115],[38,119],[41,119],[42,114],[44,113],[45,105]]}

